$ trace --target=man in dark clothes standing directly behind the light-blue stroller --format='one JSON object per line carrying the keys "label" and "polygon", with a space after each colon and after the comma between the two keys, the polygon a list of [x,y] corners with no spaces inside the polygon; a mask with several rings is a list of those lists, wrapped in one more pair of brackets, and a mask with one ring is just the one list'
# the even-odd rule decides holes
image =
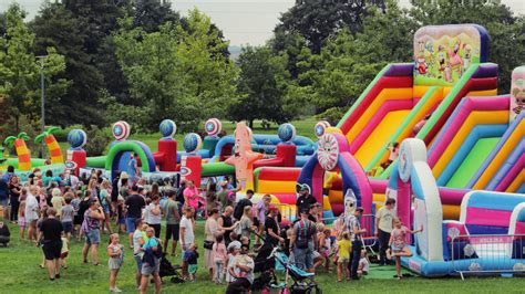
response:
{"label": "man in dark clothes standing directly behind the light-blue stroller", "polygon": [[301,219],[294,224],[290,238],[290,251],[294,251],[296,264],[302,270],[313,273],[313,246],[317,243],[316,224],[308,219],[308,208],[300,210]]}

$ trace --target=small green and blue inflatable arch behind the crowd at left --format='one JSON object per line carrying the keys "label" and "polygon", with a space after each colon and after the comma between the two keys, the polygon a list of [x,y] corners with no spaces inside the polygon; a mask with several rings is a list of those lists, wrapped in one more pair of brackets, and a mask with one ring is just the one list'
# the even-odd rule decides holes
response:
{"label": "small green and blue inflatable arch behind the crowd at left", "polygon": [[122,159],[122,156],[126,153],[135,153],[138,155],[138,158],[142,162],[142,171],[153,172],[155,171],[155,159],[153,157],[152,150],[144,143],[137,140],[123,140],[113,145],[107,154],[105,161],[105,169],[111,170],[112,178],[114,174],[119,170],[119,162]]}

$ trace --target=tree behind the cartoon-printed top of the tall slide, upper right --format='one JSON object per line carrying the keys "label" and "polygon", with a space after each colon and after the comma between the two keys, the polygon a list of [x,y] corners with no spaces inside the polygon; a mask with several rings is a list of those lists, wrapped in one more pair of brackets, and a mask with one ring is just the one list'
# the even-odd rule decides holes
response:
{"label": "tree behind the cartoon-printed top of the tall slide, upper right", "polygon": [[525,18],[498,1],[411,1],[411,17],[421,25],[477,23],[491,36],[488,61],[497,63],[500,93],[511,90],[511,73],[524,63]]}

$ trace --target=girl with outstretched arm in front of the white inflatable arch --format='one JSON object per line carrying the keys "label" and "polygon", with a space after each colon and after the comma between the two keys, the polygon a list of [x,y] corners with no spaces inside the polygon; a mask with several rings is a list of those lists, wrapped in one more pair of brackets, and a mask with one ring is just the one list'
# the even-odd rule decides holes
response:
{"label": "girl with outstretched arm in front of the white inflatable arch", "polygon": [[403,225],[399,218],[394,219],[394,229],[390,233],[389,248],[392,250],[387,250],[387,258],[395,258],[395,272],[398,280],[401,280],[401,256],[410,258],[412,256],[412,251],[406,246],[406,233],[420,233],[423,231],[423,225],[419,230],[411,231]]}

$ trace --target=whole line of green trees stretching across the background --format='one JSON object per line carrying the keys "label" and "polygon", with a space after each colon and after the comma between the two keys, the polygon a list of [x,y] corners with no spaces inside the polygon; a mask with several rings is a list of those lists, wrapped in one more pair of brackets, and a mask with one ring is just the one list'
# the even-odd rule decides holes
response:
{"label": "whole line of green trees stretching across the background", "polygon": [[183,130],[208,117],[336,123],[381,67],[412,60],[426,24],[485,27],[500,93],[525,61],[524,17],[498,1],[297,1],[271,40],[236,61],[209,17],[167,1],[62,0],[25,17],[18,4],[0,14],[0,132],[38,123],[41,72],[48,125],[125,119],[151,132],[163,118]]}

